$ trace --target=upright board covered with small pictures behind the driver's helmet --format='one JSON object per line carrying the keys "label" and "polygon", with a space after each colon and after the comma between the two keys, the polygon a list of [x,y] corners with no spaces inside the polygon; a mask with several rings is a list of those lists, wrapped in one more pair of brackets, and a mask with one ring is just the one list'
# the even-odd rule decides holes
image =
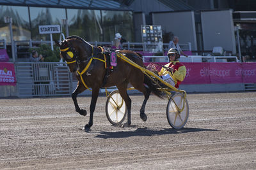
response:
{"label": "upright board covered with small pictures behind the driver's helmet", "polygon": [[161,25],[141,25],[143,52],[163,53]]}

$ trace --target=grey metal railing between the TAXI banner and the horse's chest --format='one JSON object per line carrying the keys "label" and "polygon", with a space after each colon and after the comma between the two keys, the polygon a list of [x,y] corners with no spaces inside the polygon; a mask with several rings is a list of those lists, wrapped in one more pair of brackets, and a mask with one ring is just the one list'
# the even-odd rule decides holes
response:
{"label": "grey metal railing between the TAXI banner and the horse's chest", "polygon": [[72,81],[65,63],[16,62],[19,97],[70,96]]}

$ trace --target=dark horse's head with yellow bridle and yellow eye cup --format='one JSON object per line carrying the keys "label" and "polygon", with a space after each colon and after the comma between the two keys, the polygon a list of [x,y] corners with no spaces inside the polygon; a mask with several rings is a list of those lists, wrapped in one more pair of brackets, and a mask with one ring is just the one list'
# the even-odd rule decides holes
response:
{"label": "dark horse's head with yellow bridle and yellow eye cup", "polygon": [[68,64],[70,72],[77,71],[79,65],[92,55],[92,45],[77,36],[70,36],[60,43],[54,41],[60,46],[60,55]]}

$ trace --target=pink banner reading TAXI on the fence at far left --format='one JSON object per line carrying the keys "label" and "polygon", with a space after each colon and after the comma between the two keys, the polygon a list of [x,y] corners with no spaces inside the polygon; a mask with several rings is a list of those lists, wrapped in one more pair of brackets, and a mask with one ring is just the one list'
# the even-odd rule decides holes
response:
{"label": "pink banner reading TAXI on the fence at far left", "polygon": [[16,85],[13,63],[0,62],[0,85]]}

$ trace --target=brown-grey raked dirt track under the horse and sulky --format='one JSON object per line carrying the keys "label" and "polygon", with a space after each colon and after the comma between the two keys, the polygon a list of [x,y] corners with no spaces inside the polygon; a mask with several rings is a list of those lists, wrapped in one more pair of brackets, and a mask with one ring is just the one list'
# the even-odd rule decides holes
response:
{"label": "brown-grey raked dirt track under the horse and sulky", "polygon": [[[113,127],[99,97],[90,132],[88,115],[71,97],[0,99],[0,169],[255,169],[256,92],[188,94],[189,119],[175,130],[167,100],[131,96],[132,127]],[[79,97],[88,110],[90,97]]]}

